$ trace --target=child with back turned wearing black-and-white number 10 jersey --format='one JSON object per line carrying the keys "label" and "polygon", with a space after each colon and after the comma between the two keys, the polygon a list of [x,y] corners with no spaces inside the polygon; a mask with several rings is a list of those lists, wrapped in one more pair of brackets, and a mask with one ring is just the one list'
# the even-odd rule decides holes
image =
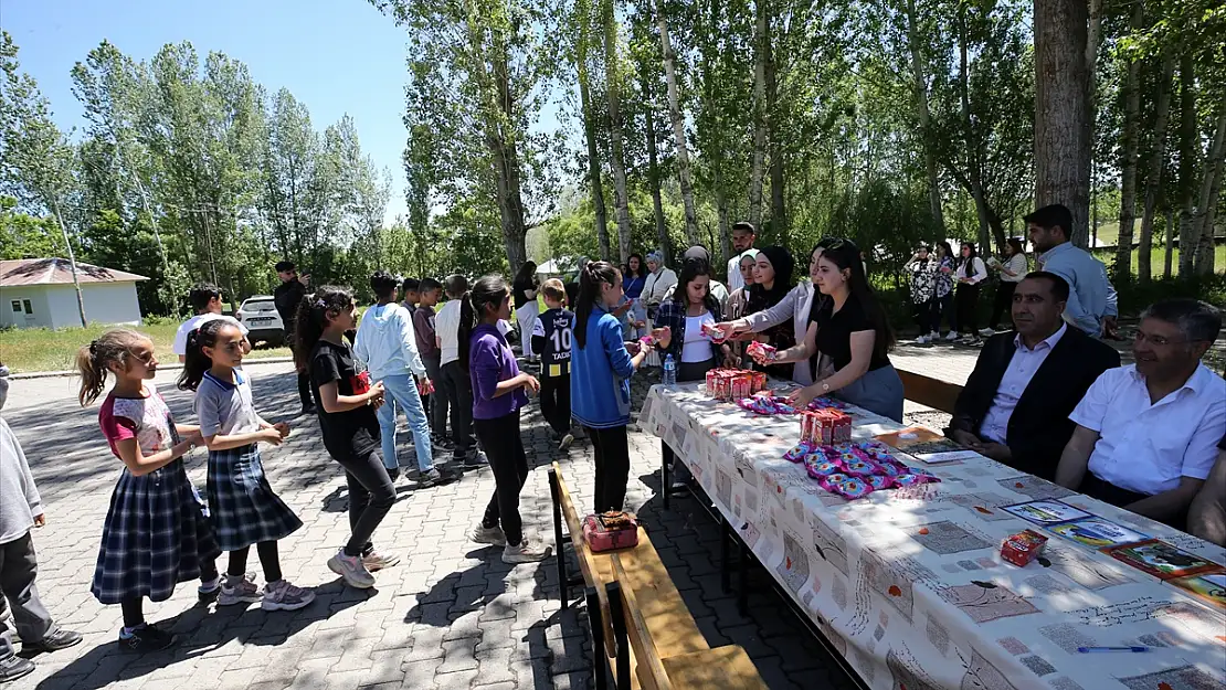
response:
{"label": "child with back turned wearing black-and-white number 10 jersey", "polygon": [[558,449],[575,442],[570,433],[570,339],[575,314],[563,306],[566,287],[558,278],[541,286],[546,313],[532,325],[532,352],[541,355],[541,415]]}

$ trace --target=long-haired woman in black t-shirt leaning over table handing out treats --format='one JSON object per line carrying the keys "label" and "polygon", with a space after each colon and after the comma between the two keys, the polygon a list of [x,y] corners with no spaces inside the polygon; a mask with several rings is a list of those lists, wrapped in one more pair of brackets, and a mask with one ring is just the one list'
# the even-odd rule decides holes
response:
{"label": "long-haired woman in black t-shirt leaning over table handing out treats", "polygon": [[804,341],[776,353],[774,362],[805,362],[821,353],[831,366],[792,395],[797,406],[836,396],[869,412],[902,422],[902,380],[890,364],[894,332],[864,277],[859,248],[829,244],[818,259],[814,282],[826,299],[814,301]]}

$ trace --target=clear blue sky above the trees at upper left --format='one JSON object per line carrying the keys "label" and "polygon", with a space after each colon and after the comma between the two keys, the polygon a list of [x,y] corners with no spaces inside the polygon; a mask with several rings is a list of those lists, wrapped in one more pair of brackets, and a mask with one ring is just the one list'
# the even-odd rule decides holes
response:
{"label": "clear blue sky above the trees at upper left", "polygon": [[405,211],[403,29],[364,0],[0,0],[0,27],[21,49],[21,69],[51,102],[64,130],[82,127],[69,71],[105,38],[151,59],[190,40],[201,56],[242,60],[270,93],[281,87],[322,130],[348,113],[363,150],[392,175],[389,219]]}

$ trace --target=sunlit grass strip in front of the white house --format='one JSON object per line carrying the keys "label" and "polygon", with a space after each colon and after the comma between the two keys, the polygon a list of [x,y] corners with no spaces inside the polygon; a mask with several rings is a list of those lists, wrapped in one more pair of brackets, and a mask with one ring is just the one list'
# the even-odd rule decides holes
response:
{"label": "sunlit grass strip in front of the white house", "polygon": [[[113,326],[99,325],[87,328],[11,328],[0,331],[0,362],[4,362],[13,374],[75,369],[77,349],[110,328]],[[170,347],[174,344],[174,333],[179,330],[178,321],[154,319],[136,330],[153,341],[159,363],[178,364],[179,357],[170,352]],[[289,357],[289,354],[287,347],[260,346],[246,357],[261,359]]]}

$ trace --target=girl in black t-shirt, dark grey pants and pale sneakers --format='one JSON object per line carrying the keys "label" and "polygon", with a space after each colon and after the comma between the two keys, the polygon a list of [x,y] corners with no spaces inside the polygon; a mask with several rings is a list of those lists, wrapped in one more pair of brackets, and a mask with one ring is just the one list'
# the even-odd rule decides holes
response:
{"label": "girl in black t-shirt, dark grey pants and pale sneakers", "polygon": [[360,371],[343,335],[356,319],[353,294],[325,286],[298,306],[294,363],[310,374],[324,447],[345,468],[349,489],[349,540],[327,560],[327,567],[349,587],[375,586],[375,571],[400,563],[392,553],[376,552],[375,528],[396,502],[396,487],[379,451],[383,381]]}

